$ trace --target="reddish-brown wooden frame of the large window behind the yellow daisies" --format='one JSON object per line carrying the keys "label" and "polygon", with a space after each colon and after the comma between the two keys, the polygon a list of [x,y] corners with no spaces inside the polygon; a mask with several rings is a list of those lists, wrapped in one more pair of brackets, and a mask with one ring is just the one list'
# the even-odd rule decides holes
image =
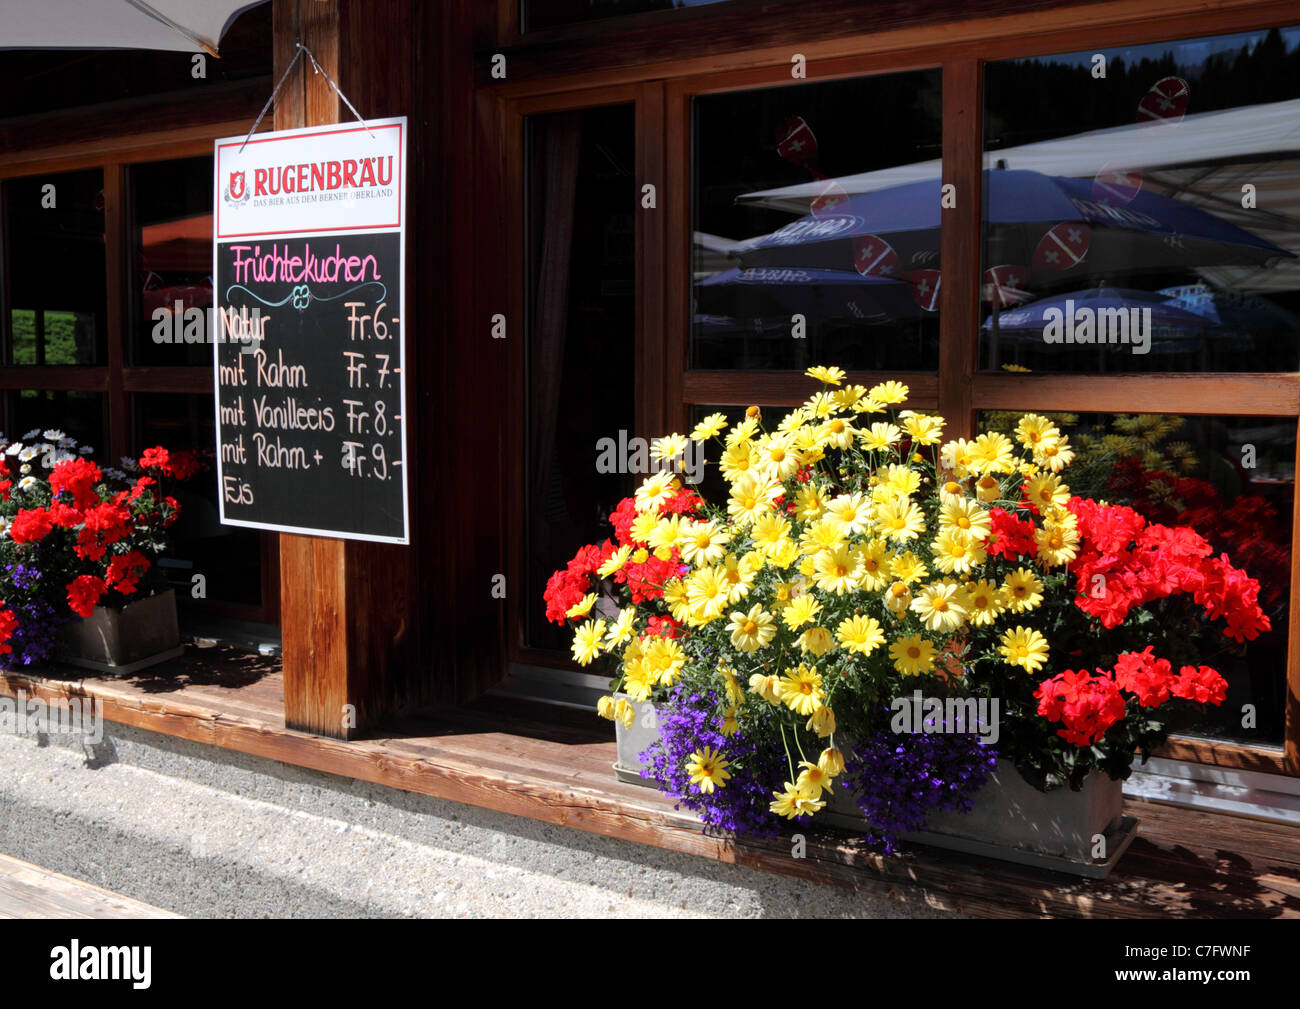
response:
{"label": "reddish-brown wooden frame of the large window behind the yellow daisies", "polygon": [[[738,8],[720,4],[702,8],[692,18],[693,30],[708,35],[708,25],[734,23],[729,13]],[[826,5],[837,7],[835,0]],[[1300,372],[1287,373],[1188,373],[1170,376],[1011,376],[978,371],[979,280],[980,280],[980,194],[983,181],[983,69],[984,64],[1006,59],[1076,52],[1080,48],[1108,48],[1191,39],[1234,31],[1282,27],[1297,22],[1294,7],[1252,0],[1225,0],[1214,9],[1186,0],[1115,0],[1079,4],[1057,9],[1027,9],[1013,16],[958,20],[959,5],[946,8],[948,21],[933,10],[913,13],[889,4],[880,13],[883,30],[835,35],[822,18],[807,44],[786,42],[785,23],[768,29],[770,44],[699,53],[682,52],[672,62],[653,55],[653,31],[672,51],[670,39],[680,39],[677,13],[630,16],[592,22],[568,29],[520,35],[517,0],[500,0],[498,42],[504,52],[510,77],[491,83],[480,77],[478,101],[495,105],[503,125],[502,147],[495,153],[504,165],[504,220],[523,217],[523,116],[534,112],[612,104],[634,99],[637,103],[637,186],[662,182],[660,211],[653,222],[638,216],[637,226],[637,361],[646,374],[662,368],[663,389],[637,404],[637,421],[646,429],[681,429],[694,404],[741,406],[763,402],[794,406],[793,372],[706,372],[688,368],[689,299],[680,264],[690,261],[690,101],[697,95],[744,91],[777,85],[796,85],[789,77],[789,56],[797,48],[807,60],[806,83],[844,77],[862,77],[900,70],[941,68],[942,72],[942,181],[957,186],[958,200],[946,211],[941,239],[945,283],[941,293],[940,359],[936,372],[901,376],[913,386],[914,399],[923,408],[936,408],[949,421],[954,436],[968,434],[984,410],[1052,410],[1074,412],[1123,412],[1140,397],[1149,412],[1180,415],[1284,416],[1297,425],[1300,471]],[[920,4],[913,4],[920,8]],[[793,8],[792,8],[793,9]],[[816,21],[819,14],[809,12]],[[940,17],[942,12],[940,12]],[[636,23],[632,23],[632,20]],[[918,21],[935,23],[915,23]],[[806,20],[801,20],[806,21]],[[823,23],[826,22],[826,23]],[[660,29],[645,29],[646,25]],[[619,29],[636,29],[634,43],[620,49]],[[718,38],[716,35],[712,38]],[[598,39],[598,44],[590,44]],[[724,43],[725,46],[725,43]],[[567,47],[567,48],[566,48]],[[585,47],[592,56],[584,57]],[[723,47],[720,46],[719,49]],[[486,65],[490,56],[482,53]],[[575,66],[573,64],[580,64]],[[581,66],[581,64],[586,66]],[[566,68],[556,73],[555,66]],[[612,95],[620,95],[612,99]],[[658,127],[658,129],[656,129]],[[491,144],[493,138],[485,138]],[[965,195],[963,194],[968,194]],[[510,277],[510,307],[516,319],[526,317],[523,295],[523,239],[511,234],[506,264]],[[655,244],[658,242],[658,246]],[[658,342],[662,341],[662,342]],[[872,378],[870,373],[850,380]],[[878,377],[878,376],[875,376]],[[900,377],[890,374],[890,377]],[[523,471],[524,374],[523,348],[516,348],[511,368],[511,419],[514,441],[508,459]],[[523,482],[507,504],[507,516],[523,514]],[[1292,514],[1291,584],[1300,584],[1300,494]],[[511,583],[523,584],[523,533],[519,521],[508,521]],[[551,653],[524,648],[520,607],[536,601],[512,598],[507,627],[507,658],[515,662],[554,664]],[[1292,590],[1288,615],[1286,676],[1284,746],[1242,744],[1174,737],[1161,755],[1196,763],[1210,763],[1253,771],[1300,775],[1300,592]]]}

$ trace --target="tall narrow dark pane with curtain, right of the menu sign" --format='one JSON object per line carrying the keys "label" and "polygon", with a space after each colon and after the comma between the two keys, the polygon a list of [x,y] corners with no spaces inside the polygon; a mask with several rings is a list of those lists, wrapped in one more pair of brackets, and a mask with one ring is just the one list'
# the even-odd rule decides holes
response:
{"label": "tall narrow dark pane with curtain, right of the menu sign", "polygon": [[546,581],[580,545],[612,537],[607,516],[641,478],[598,462],[603,438],[618,452],[637,436],[634,164],[630,105],[528,120],[524,624],[534,648],[568,651],[572,636],[545,619]]}

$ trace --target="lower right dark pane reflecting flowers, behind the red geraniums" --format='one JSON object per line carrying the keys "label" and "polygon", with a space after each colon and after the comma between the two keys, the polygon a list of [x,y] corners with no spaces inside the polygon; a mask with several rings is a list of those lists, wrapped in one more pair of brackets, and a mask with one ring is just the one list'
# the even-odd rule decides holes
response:
{"label": "lower right dark pane reflecting flowers, behind the red geraniums", "polygon": [[[1157,413],[1045,413],[1072,443],[1062,476],[1070,493],[1136,508],[1148,521],[1188,525],[1260,583],[1273,625],[1244,646],[1212,624],[1192,642],[1196,664],[1228,683],[1222,706],[1175,731],[1282,745],[1291,598],[1291,515],[1295,499],[1294,417],[1179,417]],[[985,413],[980,430],[1014,437],[1020,413]],[[1158,612],[1160,603],[1150,603]],[[1156,653],[1160,654],[1157,648]],[[1254,724],[1243,726],[1254,709]]]}

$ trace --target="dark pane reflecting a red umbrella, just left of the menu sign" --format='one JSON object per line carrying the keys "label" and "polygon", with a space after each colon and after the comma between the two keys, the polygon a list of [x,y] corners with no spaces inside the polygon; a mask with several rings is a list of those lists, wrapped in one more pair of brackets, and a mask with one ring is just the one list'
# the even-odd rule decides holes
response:
{"label": "dark pane reflecting a red umbrella, just left of the menu sign", "polygon": [[131,360],[212,367],[212,157],[130,169]]}

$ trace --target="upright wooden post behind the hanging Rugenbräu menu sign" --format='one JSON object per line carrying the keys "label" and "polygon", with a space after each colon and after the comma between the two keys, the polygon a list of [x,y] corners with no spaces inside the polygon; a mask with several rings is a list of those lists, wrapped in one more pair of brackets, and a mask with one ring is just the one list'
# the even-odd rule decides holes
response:
{"label": "upright wooden post behind the hanging Rugenbr\u00e4u menu sign", "polygon": [[[277,81],[298,39],[339,79],[339,0],[274,0],[272,20]],[[276,129],[338,122],[339,108],[303,56],[277,98]],[[410,547],[281,534],[286,727],[355,739],[406,700],[396,679],[412,666],[410,572]]]}

